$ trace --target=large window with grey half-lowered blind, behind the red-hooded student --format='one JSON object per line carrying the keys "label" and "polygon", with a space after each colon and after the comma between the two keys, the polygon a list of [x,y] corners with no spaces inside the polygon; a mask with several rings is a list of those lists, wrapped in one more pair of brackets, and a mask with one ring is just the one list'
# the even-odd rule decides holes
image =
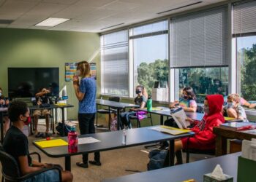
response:
{"label": "large window with grey half-lowered blind, behind the red-hooded student", "polygon": [[208,94],[227,95],[227,8],[173,17],[170,22],[175,99],[184,87],[193,88],[197,103]]}

